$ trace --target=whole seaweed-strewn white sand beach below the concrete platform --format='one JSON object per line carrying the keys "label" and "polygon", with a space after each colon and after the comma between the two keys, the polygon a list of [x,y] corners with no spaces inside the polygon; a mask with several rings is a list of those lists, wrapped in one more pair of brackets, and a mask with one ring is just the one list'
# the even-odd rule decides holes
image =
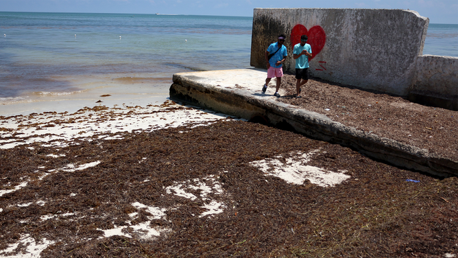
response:
{"label": "whole seaweed-strewn white sand beach below the concrete platform", "polygon": [[0,257],[458,253],[457,178],[170,100],[102,101],[0,117]]}

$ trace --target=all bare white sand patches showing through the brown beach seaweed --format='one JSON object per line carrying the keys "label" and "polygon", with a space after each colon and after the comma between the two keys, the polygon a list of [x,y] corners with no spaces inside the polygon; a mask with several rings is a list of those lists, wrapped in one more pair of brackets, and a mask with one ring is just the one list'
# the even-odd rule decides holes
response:
{"label": "all bare white sand patches showing through the brown beach seaweed", "polygon": [[[62,106],[69,107],[69,105],[66,104]],[[93,108],[81,108],[75,113],[69,113],[67,111],[58,113],[52,111],[1,118],[1,150],[8,152],[8,150],[11,149],[17,150],[19,148],[25,148],[25,150],[32,152],[38,149],[46,149],[53,152],[47,154],[46,159],[67,159],[67,154],[60,153],[61,150],[65,148],[75,148],[75,146],[81,145],[82,142],[116,141],[124,139],[125,134],[145,134],[154,132],[155,130],[166,130],[167,128],[184,127],[186,130],[193,130],[193,128],[197,126],[209,126],[222,119],[233,119],[224,114],[202,110],[195,106],[176,104],[170,100],[160,105],[147,105],[146,107],[125,105],[118,107],[117,104],[115,104],[114,108],[108,108],[100,105],[94,106]],[[179,131],[179,133],[184,132]],[[157,148],[157,146],[152,145],[152,148]],[[309,154],[298,152],[296,159],[294,161],[291,160],[289,164],[285,165],[279,163],[278,159],[254,161],[252,165],[265,171],[269,171],[269,167],[272,166],[278,167],[274,171],[269,171],[269,174],[296,185],[302,185],[304,180],[308,179],[322,187],[329,187],[350,178],[350,176],[343,174],[342,171],[337,173],[330,171],[326,172],[326,169],[320,167],[304,165],[304,163],[310,161],[310,156],[313,156],[315,152],[316,151],[312,151]],[[138,163],[142,163],[147,159],[147,157],[143,157]],[[36,170],[32,172],[34,176],[21,176],[23,179],[22,182],[19,183],[10,180],[11,178],[8,174],[12,171],[5,169],[5,167],[9,167],[8,165],[14,163],[14,161],[5,159],[3,155],[2,161],[2,174],[6,177],[1,178],[3,189],[0,190],[0,197],[3,196],[4,198],[17,194],[21,195],[21,191],[23,191],[24,188],[34,185],[39,181],[47,180],[47,178],[59,174],[60,172],[82,172],[86,169],[98,167],[104,162],[103,160],[88,163],[78,161],[53,168],[47,167],[46,165],[37,165],[35,168]],[[299,171],[301,170],[309,171],[308,176],[300,173]],[[14,177],[16,176],[18,175],[14,175]],[[184,178],[186,178],[186,176],[184,176]],[[148,179],[143,180],[143,182],[148,181]],[[199,194],[195,193],[196,190]],[[202,200],[206,200],[206,204],[201,208],[202,212],[199,215],[200,218],[222,213],[228,205],[210,197],[222,195],[224,193],[224,189],[221,188],[221,184],[218,182],[215,175],[206,176],[205,178],[184,180],[182,182],[178,181],[166,187],[165,191],[169,195],[181,196],[182,198],[190,200],[195,200],[197,196],[202,198]],[[76,195],[77,193],[70,193],[69,197],[74,198]],[[210,196],[206,197],[207,195]],[[10,198],[7,198],[7,200],[8,199]],[[4,203],[1,205],[0,212],[8,213],[11,207],[29,207],[34,205],[45,207],[47,202],[52,201],[40,198],[40,200],[36,202],[23,203],[23,200],[21,200],[10,204]],[[165,211],[168,210],[160,207],[147,206],[141,202],[134,202],[132,206],[136,207],[138,211],[152,214],[152,216],[147,216],[150,221],[162,219],[166,216]],[[75,214],[76,213],[60,214],[60,212],[47,213],[46,215],[41,215],[40,220],[45,222],[58,218],[61,215],[68,217]],[[129,216],[131,219],[134,219],[138,217],[138,212],[129,213]],[[130,222],[128,222],[128,224],[130,224]],[[126,231],[126,229],[130,229],[130,231]],[[163,235],[171,231],[170,228],[154,228],[149,224],[149,221],[140,224],[131,224],[130,226],[118,225],[113,228],[99,228],[98,230],[103,232],[102,235],[104,237],[123,236],[140,237],[141,239],[154,239],[161,234]],[[23,253],[21,257],[38,257],[45,248],[56,243],[55,240],[51,239],[43,239],[37,242],[34,237],[30,237],[29,233],[21,234],[21,237],[16,239],[16,242],[8,242],[10,242],[10,244],[0,253],[0,257],[16,257],[14,254],[17,252]]]}

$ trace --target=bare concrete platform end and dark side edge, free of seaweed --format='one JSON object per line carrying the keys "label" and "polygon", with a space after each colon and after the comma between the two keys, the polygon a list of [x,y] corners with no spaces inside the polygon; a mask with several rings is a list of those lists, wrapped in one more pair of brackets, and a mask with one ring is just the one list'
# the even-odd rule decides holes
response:
{"label": "bare concrete platform end and dark side edge, free of seaweed", "polygon": [[[263,94],[266,71],[240,69],[176,73],[170,97],[236,117],[296,130],[315,139],[350,146],[375,159],[441,176],[458,176],[458,163],[427,150],[344,126],[325,115],[276,102]],[[280,91],[280,94],[282,92]]]}

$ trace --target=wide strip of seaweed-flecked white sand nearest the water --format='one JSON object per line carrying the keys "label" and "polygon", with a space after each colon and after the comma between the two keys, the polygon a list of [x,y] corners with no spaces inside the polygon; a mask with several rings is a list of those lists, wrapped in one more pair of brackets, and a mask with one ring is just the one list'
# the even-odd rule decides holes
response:
{"label": "wide strip of seaweed-flecked white sand nearest the water", "polygon": [[208,125],[225,119],[227,115],[182,106],[167,101],[162,105],[145,107],[115,107],[106,110],[81,110],[76,113],[45,113],[21,115],[0,119],[0,148],[34,142],[44,147],[64,147],[74,139],[86,139],[99,135],[102,139],[121,139],[120,132],[134,130],[152,131],[178,126]]}

